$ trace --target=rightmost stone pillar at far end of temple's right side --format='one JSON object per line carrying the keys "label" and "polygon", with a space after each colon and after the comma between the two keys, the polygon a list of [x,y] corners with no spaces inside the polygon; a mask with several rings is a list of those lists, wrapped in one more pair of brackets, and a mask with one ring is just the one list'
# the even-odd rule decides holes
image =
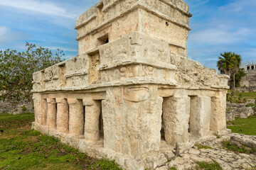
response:
{"label": "rightmost stone pillar at far end of temple's right side", "polygon": [[211,98],[210,130],[218,131],[226,129],[226,93],[218,92]]}

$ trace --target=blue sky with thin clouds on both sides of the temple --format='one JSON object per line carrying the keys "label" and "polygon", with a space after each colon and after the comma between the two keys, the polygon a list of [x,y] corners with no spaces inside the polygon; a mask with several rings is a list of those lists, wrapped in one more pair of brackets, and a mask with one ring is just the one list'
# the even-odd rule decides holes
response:
{"label": "blue sky with thin clouds on both sides of the temple", "polygon": [[[256,61],[256,0],[184,0],[193,17],[188,57],[215,68],[220,52]],[[78,54],[75,19],[97,0],[0,0],[0,50],[25,50],[25,42],[66,57]]]}

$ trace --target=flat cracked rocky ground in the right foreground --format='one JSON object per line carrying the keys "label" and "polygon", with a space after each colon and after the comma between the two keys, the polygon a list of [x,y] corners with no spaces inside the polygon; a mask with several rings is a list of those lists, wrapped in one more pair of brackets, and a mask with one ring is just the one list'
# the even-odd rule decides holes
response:
{"label": "flat cracked rocky ground in the right foreground", "polygon": [[233,152],[223,147],[223,141],[230,141],[230,143],[235,141],[240,145],[242,143],[242,145],[255,147],[255,138],[253,136],[231,134],[220,139],[210,139],[198,145],[207,146],[211,149],[198,149],[198,145],[195,145],[183,154],[180,154],[180,157],[174,157],[175,159],[167,161],[166,164],[162,164],[155,170],[167,170],[171,167],[175,167],[178,170],[196,169],[197,162],[218,162],[223,170],[256,169],[255,154]]}

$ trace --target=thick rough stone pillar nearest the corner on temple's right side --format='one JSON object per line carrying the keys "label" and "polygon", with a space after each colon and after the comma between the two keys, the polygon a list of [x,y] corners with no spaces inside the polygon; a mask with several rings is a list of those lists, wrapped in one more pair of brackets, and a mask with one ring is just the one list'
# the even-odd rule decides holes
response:
{"label": "thick rough stone pillar nearest the corner on temple's right side", "polygon": [[165,140],[170,145],[188,141],[190,98],[185,95],[164,98],[163,121]]}

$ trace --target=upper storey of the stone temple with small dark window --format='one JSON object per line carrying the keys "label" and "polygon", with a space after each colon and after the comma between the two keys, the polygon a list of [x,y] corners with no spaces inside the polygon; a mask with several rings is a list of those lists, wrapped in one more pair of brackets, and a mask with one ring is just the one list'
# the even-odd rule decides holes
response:
{"label": "upper storey of the stone temple with small dark window", "polygon": [[168,42],[172,52],[186,57],[188,11],[182,0],[102,0],[76,21],[79,55],[138,32]]}

